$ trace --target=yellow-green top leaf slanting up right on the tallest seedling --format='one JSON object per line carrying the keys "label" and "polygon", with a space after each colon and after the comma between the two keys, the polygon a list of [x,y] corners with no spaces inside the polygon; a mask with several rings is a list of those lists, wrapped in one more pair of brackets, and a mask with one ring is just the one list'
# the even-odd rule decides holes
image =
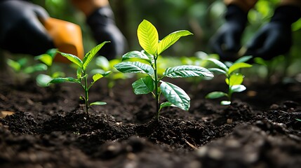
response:
{"label": "yellow-green top leaf slanting up right on the tallest seedling", "polygon": [[169,48],[170,45],[173,45],[175,42],[177,42],[182,36],[188,35],[192,35],[192,33],[187,30],[175,31],[171,34],[168,34],[159,42],[157,55],[160,55],[164,50]]}

